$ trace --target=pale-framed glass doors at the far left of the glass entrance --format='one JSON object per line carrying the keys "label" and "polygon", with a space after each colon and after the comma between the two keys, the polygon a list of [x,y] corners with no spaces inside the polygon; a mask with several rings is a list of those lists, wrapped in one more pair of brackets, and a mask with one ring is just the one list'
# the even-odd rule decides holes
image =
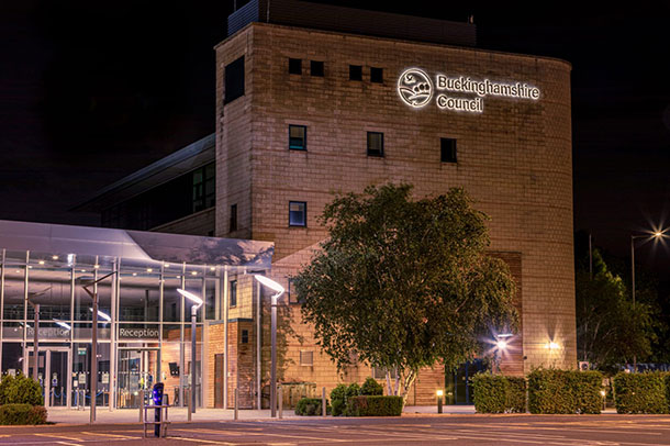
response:
{"label": "pale-framed glass doors at the far left of the glass entrance", "polygon": [[[37,354],[37,379],[42,387],[45,406],[67,406],[69,394],[68,365],[70,350],[67,347],[40,347]],[[34,349],[29,350],[27,376],[33,376]]]}

